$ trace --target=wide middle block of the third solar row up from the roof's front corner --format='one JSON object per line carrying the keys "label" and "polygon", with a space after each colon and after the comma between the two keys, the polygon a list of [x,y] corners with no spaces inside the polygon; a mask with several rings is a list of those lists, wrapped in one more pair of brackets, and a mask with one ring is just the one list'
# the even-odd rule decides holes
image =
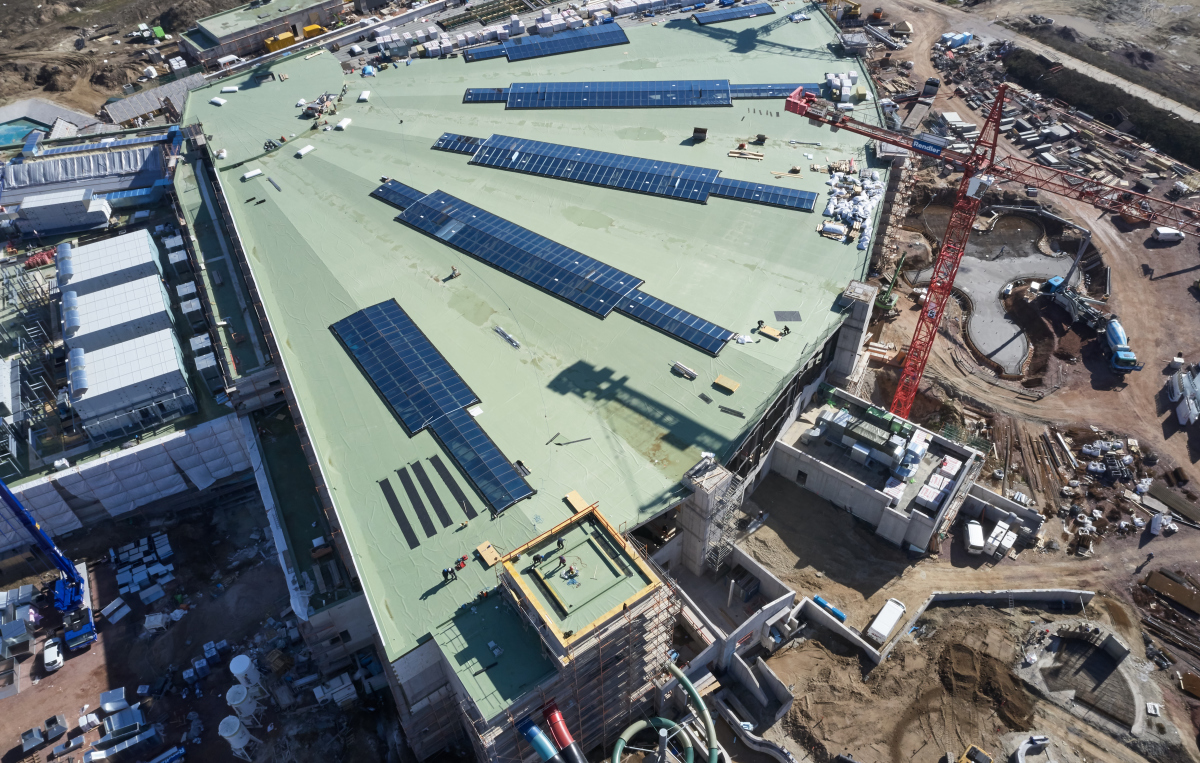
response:
{"label": "wide middle block of the third solar row up from the roof's front corner", "polygon": [[472,164],[574,180],[704,204],[718,170],[576,149],[540,140],[492,136]]}

